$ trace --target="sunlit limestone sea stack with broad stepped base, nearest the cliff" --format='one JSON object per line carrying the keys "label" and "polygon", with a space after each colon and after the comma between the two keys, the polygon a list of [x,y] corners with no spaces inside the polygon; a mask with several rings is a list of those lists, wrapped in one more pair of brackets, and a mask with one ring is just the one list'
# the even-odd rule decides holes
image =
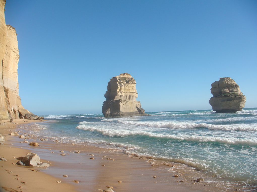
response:
{"label": "sunlit limestone sea stack with broad stepped base, nearest the cliff", "polygon": [[113,77],[108,82],[104,97],[106,101],[102,112],[105,117],[148,115],[141,108],[140,101],[136,101],[136,81],[128,73]]}

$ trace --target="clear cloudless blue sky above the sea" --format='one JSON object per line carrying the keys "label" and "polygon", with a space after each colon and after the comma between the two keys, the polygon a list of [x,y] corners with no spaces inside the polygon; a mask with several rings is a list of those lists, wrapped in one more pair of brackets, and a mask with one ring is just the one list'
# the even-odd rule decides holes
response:
{"label": "clear cloudless blue sky above the sea", "polygon": [[107,82],[136,80],[146,112],[205,110],[231,77],[257,107],[257,1],[7,0],[19,86],[37,115],[101,113]]}

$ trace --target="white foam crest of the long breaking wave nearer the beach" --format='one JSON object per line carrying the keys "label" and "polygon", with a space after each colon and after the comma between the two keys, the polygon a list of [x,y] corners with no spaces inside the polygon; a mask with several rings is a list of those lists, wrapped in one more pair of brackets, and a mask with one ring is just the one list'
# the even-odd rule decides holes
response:
{"label": "white foam crest of the long breaking wave nearer the beach", "polygon": [[237,139],[237,138],[227,138],[227,137],[214,137],[214,136],[198,136],[198,135],[170,135],[170,134],[160,134],[160,133],[152,133],[147,131],[136,131],[136,130],[115,130],[115,129],[105,129],[100,127],[91,127],[87,125],[79,125],[76,127],[77,129],[83,129],[87,131],[96,131],[102,133],[102,135],[107,136],[149,136],[155,138],[168,138],[173,140],[180,141],[196,141],[196,142],[217,142],[224,144],[233,144],[233,145],[249,145],[255,146],[257,145],[257,139]]}

